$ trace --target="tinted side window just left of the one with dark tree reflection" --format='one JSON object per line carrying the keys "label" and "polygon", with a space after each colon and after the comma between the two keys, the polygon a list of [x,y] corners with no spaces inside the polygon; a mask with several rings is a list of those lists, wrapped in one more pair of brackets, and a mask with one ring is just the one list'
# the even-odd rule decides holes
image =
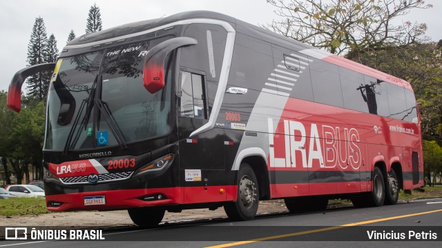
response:
{"label": "tinted side window just left of the one with dark tree reflection", "polygon": [[315,60],[310,64],[310,73],[315,102],[343,107],[338,66]]}

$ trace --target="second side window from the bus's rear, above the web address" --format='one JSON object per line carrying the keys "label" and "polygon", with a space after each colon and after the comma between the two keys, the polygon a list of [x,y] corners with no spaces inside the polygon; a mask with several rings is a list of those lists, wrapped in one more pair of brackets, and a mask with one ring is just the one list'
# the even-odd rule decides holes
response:
{"label": "second side window from the bus's rear, above the web address", "polygon": [[390,117],[405,120],[407,117],[407,103],[405,103],[405,92],[403,87],[392,83],[385,83],[388,93],[388,105],[390,106]]}

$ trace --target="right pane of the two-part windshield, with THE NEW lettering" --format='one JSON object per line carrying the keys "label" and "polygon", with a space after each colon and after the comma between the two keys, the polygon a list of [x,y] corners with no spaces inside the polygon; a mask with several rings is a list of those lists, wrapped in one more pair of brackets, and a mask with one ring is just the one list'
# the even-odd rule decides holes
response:
{"label": "right pane of the two-part windshield, with THE NEW lettering", "polygon": [[[111,111],[126,142],[164,135],[170,130],[171,61],[166,58],[164,63],[164,89],[155,94],[144,88],[142,76],[146,51],[161,41],[164,38],[122,45],[106,50],[104,55],[100,72],[103,75],[102,101]],[[102,137],[102,132],[109,131],[107,145],[117,145],[108,126],[109,120],[104,112],[100,113],[97,138]]]}

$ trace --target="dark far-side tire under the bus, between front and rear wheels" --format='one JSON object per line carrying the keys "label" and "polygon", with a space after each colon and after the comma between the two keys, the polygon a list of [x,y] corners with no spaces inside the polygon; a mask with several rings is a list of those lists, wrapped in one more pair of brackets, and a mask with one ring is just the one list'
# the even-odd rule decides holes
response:
{"label": "dark far-side tire under the bus, between front and rear wheels", "polygon": [[329,199],[325,196],[289,197],[284,198],[284,203],[291,213],[302,213],[327,209]]}

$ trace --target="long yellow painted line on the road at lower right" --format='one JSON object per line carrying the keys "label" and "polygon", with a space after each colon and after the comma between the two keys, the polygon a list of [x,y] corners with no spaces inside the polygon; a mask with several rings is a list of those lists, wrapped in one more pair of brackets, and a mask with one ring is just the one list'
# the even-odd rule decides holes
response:
{"label": "long yellow painted line on the road at lower right", "polygon": [[420,213],[416,213],[416,214],[405,214],[403,216],[393,216],[393,217],[387,217],[387,218],[380,218],[380,219],[376,219],[376,220],[367,220],[367,221],[361,221],[358,223],[349,223],[349,224],[345,224],[345,225],[339,225],[339,226],[334,226],[334,227],[325,227],[325,228],[321,228],[321,229],[313,229],[313,230],[309,230],[309,231],[299,231],[296,233],[291,233],[291,234],[281,234],[281,235],[276,235],[276,236],[269,236],[269,237],[264,237],[264,238],[256,238],[253,240],[244,240],[244,241],[238,241],[238,242],[231,242],[228,244],[223,244],[223,245],[214,245],[211,247],[206,247],[206,248],[222,248],[222,247],[233,247],[236,245],[245,245],[245,244],[249,244],[252,242],[259,242],[259,241],[265,241],[265,240],[274,240],[274,239],[278,239],[278,238],[287,238],[287,237],[291,237],[291,236],[300,236],[300,235],[305,235],[305,234],[314,234],[320,231],[330,231],[330,230],[335,230],[335,229],[340,229],[340,228],[345,228],[345,227],[354,227],[354,226],[358,226],[358,225],[365,225],[365,224],[371,224],[371,223],[378,223],[378,222],[382,222],[382,221],[386,221],[386,220],[396,220],[398,218],[407,218],[407,217],[411,217],[411,216],[419,216],[419,215],[423,215],[423,214],[432,214],[432,213],[436,213],[436,212],[440,212],[442,211],[442,209],[437,209],[437,210],[433,210],[433,211],[425,211],[425,212],[420,212]]}

